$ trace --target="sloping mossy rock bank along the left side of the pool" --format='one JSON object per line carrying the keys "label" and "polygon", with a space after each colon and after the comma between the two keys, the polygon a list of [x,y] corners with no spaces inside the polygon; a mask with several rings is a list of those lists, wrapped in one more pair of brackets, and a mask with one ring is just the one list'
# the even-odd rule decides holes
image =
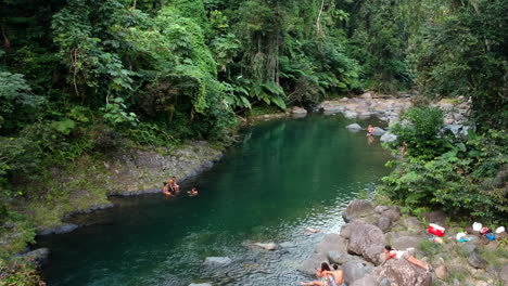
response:
{"label": "sloping mossy rock bank along the left side of the pool", "polygon": [[29,262],[43,262],[46,251],[28,252],[27,245],[35,242],[36,235],[74,231],[79,225],[68,223],[69,218],[112,207],[110,196],[157,193],[162,182],[172,176],[183,182],[211,168],[223,151],[224,146],[204,141],[187,142],[175,150],[122,147],[52,168],[43,183],[35,184],[46,191],[45,197],[16,202],[15,216],[2,223],[0,274],[12,264],[13,257],[26,255]]}

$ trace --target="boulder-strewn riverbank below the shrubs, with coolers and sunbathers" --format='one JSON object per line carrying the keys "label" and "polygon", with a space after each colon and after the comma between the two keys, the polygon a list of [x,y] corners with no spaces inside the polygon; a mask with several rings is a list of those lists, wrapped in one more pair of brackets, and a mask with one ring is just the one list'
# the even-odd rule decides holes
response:
{"label": "boulder-strewn riverbank below the shrubs, with coolers and sunbathers", "polygon": [[[471,232],[471,240],[460,243],[455,236],[460,227],[447,225],[446,213],[433,211],[423,217],[426,224],[403,216],[395,206],[353,200],[343,213],[347,223],[340,233],[327,234],[299,270],[312,275],[321,262],[338,263],[348,286],[508,285],[506,233],[490,242]],[[443,243],[429,239],[427,223],[447,227]],[[409,251],[434,271],[426,272],[405,259],[385,261],[384,245]]]}

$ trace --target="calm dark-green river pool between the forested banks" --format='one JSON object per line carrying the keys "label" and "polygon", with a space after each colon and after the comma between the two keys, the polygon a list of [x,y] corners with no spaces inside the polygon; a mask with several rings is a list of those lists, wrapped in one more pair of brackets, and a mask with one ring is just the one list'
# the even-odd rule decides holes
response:
{"label": "calm dark-green river pool between the forested banks", "polygon": [[[198,197],[115,198],[75,232],[41,237],[49,285],[296,285],[314,246],[341,212],[371,191],[390,158],[379,140],[351,133],[342,116],[309,116],[245,130],[213,169],[182,184]],[[360,122],[363,125],[370,122]],[[320,229],[318,234],[305,227]],[[253,242],[283,244],[277,251]],[[219,269],[206,257],[229,257]]]}

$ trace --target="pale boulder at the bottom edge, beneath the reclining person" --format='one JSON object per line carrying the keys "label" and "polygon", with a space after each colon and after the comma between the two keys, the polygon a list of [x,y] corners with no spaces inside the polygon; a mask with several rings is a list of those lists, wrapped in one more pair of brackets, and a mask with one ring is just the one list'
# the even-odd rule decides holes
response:
{"label": "pale boulder at the bottom edge, beneath the reclining person", "polygon": [[431,286],[432,276],[424,269],[409,263],[406,259],[390,259],[374,269],[378,283],[388,278],[391,285]]}

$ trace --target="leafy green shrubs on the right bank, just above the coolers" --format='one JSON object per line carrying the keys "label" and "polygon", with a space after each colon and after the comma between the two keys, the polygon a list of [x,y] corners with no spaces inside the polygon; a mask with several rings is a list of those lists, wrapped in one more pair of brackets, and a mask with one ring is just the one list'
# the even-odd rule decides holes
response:
{"label": "leafy green shrubs on the right bank, just above the coolers", "polygon": [[456,136],[443,131],[442,112],[430,107],[412,108],[403,119],[392,128],[397,141],[386,144],[402,157],[389,162],[396,168],[383,178],[380,195],[416,214],[444,209],[460,219],[508,222],[506,131]]}

